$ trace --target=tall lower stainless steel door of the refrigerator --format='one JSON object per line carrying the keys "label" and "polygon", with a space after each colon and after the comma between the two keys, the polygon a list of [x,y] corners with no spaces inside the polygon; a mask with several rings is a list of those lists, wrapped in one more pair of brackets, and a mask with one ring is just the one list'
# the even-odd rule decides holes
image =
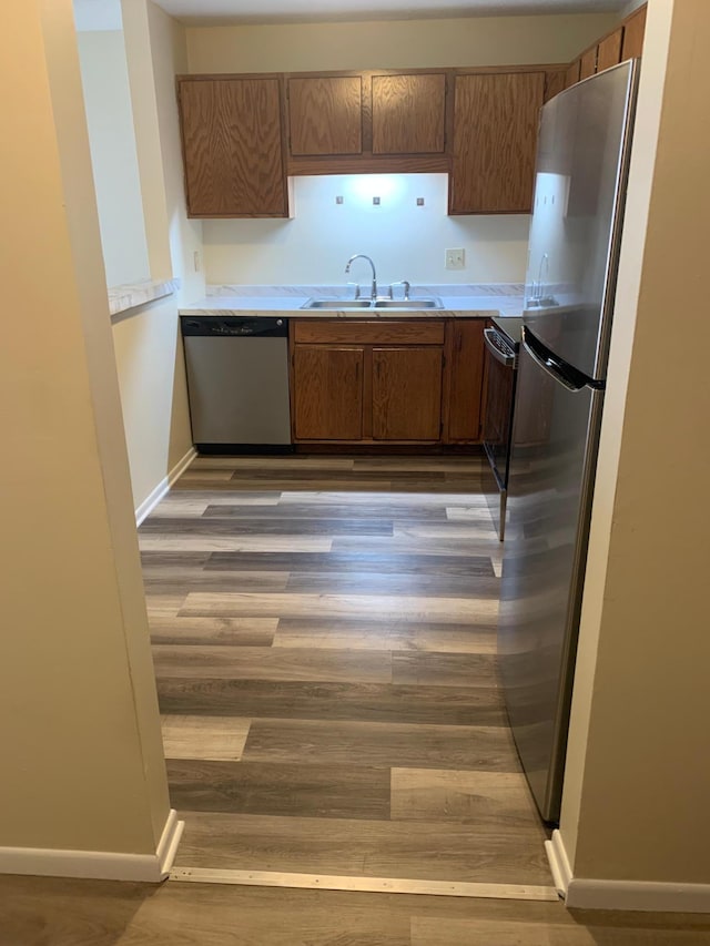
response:
{"label": "tall lower stainless steel door of the refrigerator", "polygon": [[521,347],[498,654],[520,761],[551,822],[559,818],[601,398],[558,382]]}

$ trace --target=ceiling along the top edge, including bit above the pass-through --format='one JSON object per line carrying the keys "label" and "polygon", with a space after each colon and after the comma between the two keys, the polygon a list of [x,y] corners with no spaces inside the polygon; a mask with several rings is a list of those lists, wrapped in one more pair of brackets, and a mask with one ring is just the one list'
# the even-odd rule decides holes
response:
{"label": "ceiling along the top edge, including bit above the pass-through", "polygon": [[[629,0],[155,0],[190,26],[618,12]],[[116,27],[116,9],[118,23]],[[120,29],[119,0],[74,0],[79,29]],[[104,18],[104,26],[102,23]]]}

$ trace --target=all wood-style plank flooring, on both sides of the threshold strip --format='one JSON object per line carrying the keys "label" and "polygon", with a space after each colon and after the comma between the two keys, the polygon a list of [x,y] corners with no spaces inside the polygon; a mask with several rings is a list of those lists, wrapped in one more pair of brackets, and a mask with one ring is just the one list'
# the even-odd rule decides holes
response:
{"label": "all wood-style plank flooring, on both sides of the threshold strip", "polygon": [[[144,523],[182,869],[550,883],[496,682],[478,469],[201,459]],[[710,946],[710,918],[0,876],[0,946],[467,944]]]}

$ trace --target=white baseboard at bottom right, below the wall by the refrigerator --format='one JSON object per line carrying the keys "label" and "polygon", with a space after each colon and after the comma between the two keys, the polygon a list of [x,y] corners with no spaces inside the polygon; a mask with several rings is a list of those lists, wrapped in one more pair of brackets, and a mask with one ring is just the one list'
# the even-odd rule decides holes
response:
{"label": "white baseboard at bottom right, below the wall by the refrigerator", "polygon": [[559,831],[545,843],[555,886],[572,909],[710,913],[710,884],[574,877]]}

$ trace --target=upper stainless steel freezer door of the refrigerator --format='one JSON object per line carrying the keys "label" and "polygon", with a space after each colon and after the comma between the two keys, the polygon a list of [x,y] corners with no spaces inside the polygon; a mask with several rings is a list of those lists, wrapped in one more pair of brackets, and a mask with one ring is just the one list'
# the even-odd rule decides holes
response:
{"label": "upper stainless steel freezer door of the refrigerator", "polygon": [[632,61],[541,111],[524,321],[585,375],[606,375],[636,96]]}

